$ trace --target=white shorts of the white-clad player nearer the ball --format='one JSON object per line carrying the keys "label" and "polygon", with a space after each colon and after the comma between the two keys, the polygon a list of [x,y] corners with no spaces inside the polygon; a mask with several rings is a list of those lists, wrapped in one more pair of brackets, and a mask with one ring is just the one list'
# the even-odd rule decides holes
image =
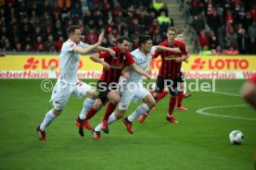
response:
{"label": "white shorts of the white-clad player nearer the ball", "polygon": [[[131,85],[133,83],[133,85]],[[131,88],[129,89],[129,84]],[[118,104],[120,110],[127,110],[129,104],[133,100],[134,103],[142,101],[147,95],[151,95],[147,89],[143,87],[141,83],[129,82],[123,87],[123,91],[120,91],[121,100]]]}

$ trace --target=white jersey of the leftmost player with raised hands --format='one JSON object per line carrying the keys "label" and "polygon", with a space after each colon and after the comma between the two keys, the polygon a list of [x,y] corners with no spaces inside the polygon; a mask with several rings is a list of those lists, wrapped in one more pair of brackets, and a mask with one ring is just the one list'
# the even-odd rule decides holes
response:
{"label": "white jersey of the leftmost player with raised hands", "polygon": [[59,55],[60,73],[58,79],[64,79],[68,83],[76,83],[80,55],[73,52],[76,46],[86,47],[88,44],[79,42],[76,44],[70,39],[63,43]]}

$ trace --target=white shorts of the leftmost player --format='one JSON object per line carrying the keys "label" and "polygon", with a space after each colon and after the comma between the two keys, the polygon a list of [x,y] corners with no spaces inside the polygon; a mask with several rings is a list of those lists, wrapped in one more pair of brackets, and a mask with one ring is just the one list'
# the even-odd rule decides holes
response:
{"label": "white shorts of the leftmost player", "polygon": [[50,103],[54,105],[56,110],[62,110],[68,103],[71,94],[74,94],[78,99],[82,99],[90,89],[93,88],[79,80],[76,83],[65,83],[58,79],[52,91]]}

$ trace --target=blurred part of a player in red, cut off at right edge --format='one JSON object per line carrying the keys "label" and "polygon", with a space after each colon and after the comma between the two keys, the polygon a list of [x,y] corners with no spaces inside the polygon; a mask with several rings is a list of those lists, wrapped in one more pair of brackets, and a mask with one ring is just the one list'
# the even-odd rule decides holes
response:
{"label": "blurred part of a player in red, cut off at right edge", "polygon": [[241,95],[247,103],[256,109],[256,74],[253,74],[250,80],[244,83]]}

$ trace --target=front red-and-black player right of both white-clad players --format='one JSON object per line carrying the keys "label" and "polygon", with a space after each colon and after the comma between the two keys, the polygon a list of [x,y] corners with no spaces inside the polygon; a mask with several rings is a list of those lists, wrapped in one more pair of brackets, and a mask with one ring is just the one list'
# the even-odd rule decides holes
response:
{"label": "front red-and-black player right of both white-clad players", "polygon": [[[173,109],[176,104],[176,96],[179,91],[177,89],[179,79],[181,78],[181,66],[182,62],[186,61],[188,58],[186,52],[186,46],[183,42],[175,41],[176,29],[171,27],[167,30],[166,36],[167,40],[164,42],[160,42],[161,46],[166,47],[178,47],[181,49],[181,54],[173,54],[172,52],[156,52],[153,57],[161,57],[161,66],[159,75],[156,81],[156,90],[153,92],[153,96],[155,99],[159,97],[160,92],[164,90],[164,88],[168,88],[168,91],[171,93],[172,97],[169,101],[169,110],[166,117],[166,120],[177,124],[178,121],[173,117]],[[141,115],[139,117],[139,121],[143,122],[149,112]]]}

